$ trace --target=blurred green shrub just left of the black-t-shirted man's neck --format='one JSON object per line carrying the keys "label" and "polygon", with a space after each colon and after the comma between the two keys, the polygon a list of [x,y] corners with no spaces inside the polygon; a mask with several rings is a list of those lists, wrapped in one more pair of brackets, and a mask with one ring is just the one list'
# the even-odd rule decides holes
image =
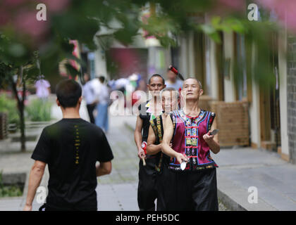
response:
{"label": "blurred green shrub just left of the black-t-shirted man's neck", "polygon": [[51,103],[42,99],[34,99],[25,109],[27,118],[31,121],[50,121],[51,120]]}

